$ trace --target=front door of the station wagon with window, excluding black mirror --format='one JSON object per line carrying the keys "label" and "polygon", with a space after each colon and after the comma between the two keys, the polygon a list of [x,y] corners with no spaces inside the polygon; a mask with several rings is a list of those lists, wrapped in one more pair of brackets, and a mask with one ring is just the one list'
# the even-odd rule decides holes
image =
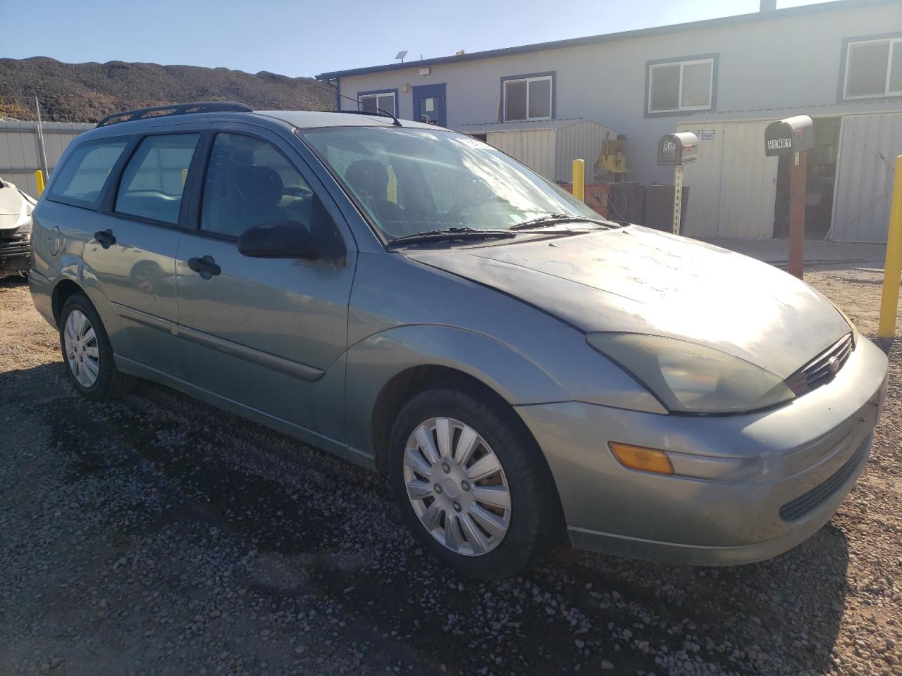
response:
{"label": "front door of the station wagon with window, excluding black mirror", "polygon": [[[185,370],[192,385],[340,439],[353,240],[290,145],[251,129],[215,126],[207,139],[198,227],[182,235],[176,260]],[[346,247],[344,257],[262,259],[238,251],[247,228],[285,221],[333,251]]]}

